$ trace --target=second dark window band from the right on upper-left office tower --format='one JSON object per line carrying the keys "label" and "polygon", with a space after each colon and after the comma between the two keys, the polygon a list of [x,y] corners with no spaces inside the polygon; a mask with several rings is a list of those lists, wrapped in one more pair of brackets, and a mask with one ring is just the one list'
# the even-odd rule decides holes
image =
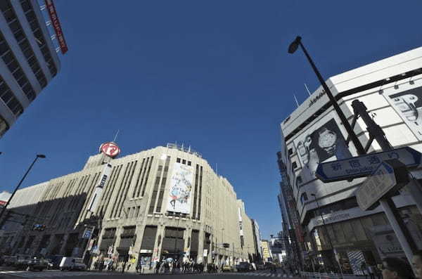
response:
{"label": "second dark window band from the right on upper-left office tower", "polygon": [[[13,36],[15,37],[16,41],[18,41],[20,50],[23,52],[23,55],[27,59],[27,62],[30,64],[32,72],[34,72],[35,77],[37,77],[37,80],[39,84],[41,85],[41,88],[44,88],[47,85],[46,76],[44,72],[42,72],[41,70],[38,60],[35,57],[35,53],[32,50],[30,43],[25,36],[25,32],[23,32],[23,27],[22,25],[20,25],[20,22],[18,20],[18,17],[16,16],[15,11],[13,11],[13,7],[10,3],[10,0],[5,0],[5,1],[7,2],[7,5],[1,8],[1,11],[3,12],[6,18],[6,21],[8,22],[8,25],[13,33]],[[11,70],[11,72],[13,71]]]}

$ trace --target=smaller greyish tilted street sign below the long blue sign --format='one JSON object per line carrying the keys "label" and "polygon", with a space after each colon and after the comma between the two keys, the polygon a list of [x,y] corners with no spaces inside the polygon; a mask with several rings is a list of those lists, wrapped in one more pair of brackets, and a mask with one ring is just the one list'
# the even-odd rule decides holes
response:
{"label": "smaller greyish tilted street sign below the long blue sign", "polygon": [[373,209],[378,200],[409,183],[407,167],[399,160],[381,162],[356,191],[357,204],[362,210]]}

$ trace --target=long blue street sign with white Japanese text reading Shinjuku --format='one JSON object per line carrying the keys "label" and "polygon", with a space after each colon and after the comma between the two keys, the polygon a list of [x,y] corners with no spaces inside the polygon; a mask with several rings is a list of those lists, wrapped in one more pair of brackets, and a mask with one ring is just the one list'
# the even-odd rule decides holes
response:
{"label": "long blue street sign with white Japanese text reading Shinjuku", "polygon": [[422,154],[413,148],[397,148],[380,153],[321,163],[316,168],[315,176],[324,182],[357,179],[369,176],[385,160],[397,159],[406,167],[416,167],[421,164],[421,158]]}

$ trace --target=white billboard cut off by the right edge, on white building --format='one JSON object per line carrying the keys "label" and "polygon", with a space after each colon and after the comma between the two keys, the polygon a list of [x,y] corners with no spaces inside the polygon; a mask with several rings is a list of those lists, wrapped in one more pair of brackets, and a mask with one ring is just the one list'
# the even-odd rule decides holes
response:
{"label": "white billboard cut off by the right edge, on white building", "polygon": [[422,140],[422,87],[410,89],[400,93],[388,95],[385,98],[394,110],[403,119],[404,123]]}

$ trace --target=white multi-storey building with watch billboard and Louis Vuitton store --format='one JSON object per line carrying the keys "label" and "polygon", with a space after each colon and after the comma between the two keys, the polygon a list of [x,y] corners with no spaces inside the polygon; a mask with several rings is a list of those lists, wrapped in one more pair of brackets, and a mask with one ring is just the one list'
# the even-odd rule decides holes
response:
{"label": "white multi-storey building with watch billboard and Louis Vuitton store", "polygon": [[[350,122],[351,103],[358,99],[393,147],[409,146],[422,152],[422,48],[338,74],[326,83]],[[404,253],[381,207],[359,209],[355,191],[364,179],[323,183],[315,177],[319,163],[357,156],[352,143],[347,147],[347,132],[340,123],[323,89],[316,89],[281,123],[281,159],[288,175],[286,186],[293,192],[300,223],[306,228],[305,264],[309,269],[337,265],[331,240],[343,272],[359,273],[364,261],[375,264],[383,257],[403,257]],[[362,119],[354,131],[365,146],[369,135]],[[374,141],[369,153],[379,151]],[[421,169],[411,171],[416,178],[422,177]],[[421,244],[422,218],[413,197],[405,187],[393,200],[415,242]],[[321,226],[320,214],[326,226]]]}

